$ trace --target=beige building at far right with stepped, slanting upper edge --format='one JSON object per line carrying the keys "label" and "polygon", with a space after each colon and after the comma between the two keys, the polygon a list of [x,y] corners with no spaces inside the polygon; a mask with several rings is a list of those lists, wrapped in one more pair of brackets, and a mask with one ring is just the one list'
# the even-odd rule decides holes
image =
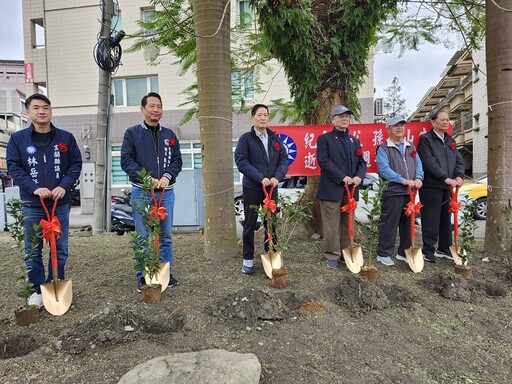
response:
{"label": "beige building at far right with stepped, slanting upper edge", "polygon": [[427,121],[438,111],[448,112],[466,175],[473,178],[487,174],[486,72],[484,48],[457,51],[410,117],[410,121]]}

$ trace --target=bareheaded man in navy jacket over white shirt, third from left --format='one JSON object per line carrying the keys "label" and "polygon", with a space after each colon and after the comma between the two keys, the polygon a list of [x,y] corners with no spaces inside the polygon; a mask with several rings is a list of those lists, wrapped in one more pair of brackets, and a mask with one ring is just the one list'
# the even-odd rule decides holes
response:
{"label": "bareheaded man in navy jacket over white shirt, third from left", "polygon": [[[288,154],[279,136],[267,128],[268,107],[256,104],[251,110],[253,126],[251,131],[240,136],[235,149],[235,162],[243,176],[244,228],[243,228],[243,264],[242,272],[254,273],[254,230],[258,213],[251,205],[263,204],[263,188],[274,186],[272,200],[277,202],[277,184],[288,171]],[[265,223],[264,223],[265,224]],[[267,226],[265,239],[267,239]],[[272,229],[272,232],[274,230]],[[275,232],[272,234],[275,238]],[[265,242],[268,251],[268,242]]]}

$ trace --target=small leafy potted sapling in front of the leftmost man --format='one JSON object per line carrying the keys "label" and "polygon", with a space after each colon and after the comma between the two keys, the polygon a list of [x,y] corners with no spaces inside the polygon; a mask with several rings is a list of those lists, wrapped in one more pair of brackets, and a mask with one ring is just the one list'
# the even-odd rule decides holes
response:
{"label": "small leafy potted sapling in front of the leftmost man", "polygon": [[21,299],[25,300],[25,305],[28,306],[28,298],[34,292],[34,284],[29,283],[27,280],[27,268],[25,260],[30,260],[37,249],[38,238],[41,237],[41,226],[34,224],[34,233],[31,235],[28,246],[25,246],[25,215],[23,214],[23,200],[10,199],[6,203],[7,213],[14,219],[10,224],[7,224],[11,237],[16,242],[16,248],[20,253],[20,270],[21,279],[24,284],[21,289],[16,293]]}

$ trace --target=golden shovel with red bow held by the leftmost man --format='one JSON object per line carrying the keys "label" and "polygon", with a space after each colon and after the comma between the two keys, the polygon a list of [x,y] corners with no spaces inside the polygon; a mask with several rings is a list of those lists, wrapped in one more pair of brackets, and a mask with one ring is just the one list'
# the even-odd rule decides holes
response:
{"label": "golden shovel with red bow held by the leftmost man", "polygon": [[50,259],[52,264],[53,280],[50,283],[41,285],[41,295],[46,310],[55,316],[66,313],[73,300],[73,290],[71,280],[59,280],[59,270],[57,263],[57,237],[62,233],[59,219],[55,216],[57,200],[53,203],[52,214],[48,212],[43,199],[39,198],[41,205],[46,212],[47,220],[42,219],[39,225],[42,227],[43,238],[50,244]]}

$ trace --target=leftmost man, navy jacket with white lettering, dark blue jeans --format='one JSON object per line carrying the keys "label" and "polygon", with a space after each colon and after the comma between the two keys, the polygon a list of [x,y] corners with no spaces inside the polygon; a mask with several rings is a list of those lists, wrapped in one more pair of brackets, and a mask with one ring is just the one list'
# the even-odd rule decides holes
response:
{"label": "leftmost man, navy jacket with white lettering, dark blue jeans", "polygon": [[[64,280],[68,258],[70,190],[80,177],[82,155],[73,135],[51,123],[52,108],[46,96],[34,94],[28,97],[25,107],[32,123],[28,128],[15,132],[7,144],[7,168],[20,187],[21,199],[25,202],[25,248],[34,248],[34,224],[39,224],[41,219],[46,220],[40,198],[50,212],[57,204],[55,215],[62,230],[62,235],[57,238],[57,263],[59,279]],[[53,280],[51,268],[45,276],[42,248],[42,239],[37,239],[34,252],[25,259],[28,280],[35,289],[28,303],[39,308],[43,306],[40,286]]]}

